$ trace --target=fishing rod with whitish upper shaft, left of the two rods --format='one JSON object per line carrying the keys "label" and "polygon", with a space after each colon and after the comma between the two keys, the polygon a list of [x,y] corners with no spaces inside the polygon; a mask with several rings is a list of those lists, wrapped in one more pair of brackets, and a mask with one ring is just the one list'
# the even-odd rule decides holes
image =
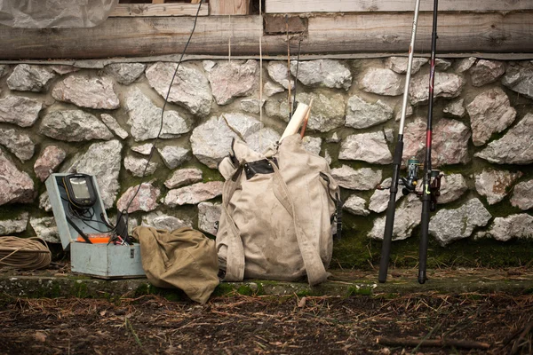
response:
{"label": "fishing rod with whitish upper shaft, left of the two rods", "polygon": [[[415,39],[417,37],[417,25],[418,25],[418,10],[420,8],[420,0],[417,0],[415,4],[415,17],[413,20],[413,27],[411,30],[410,46],[409,46],[409,59],[407,61],[407,73],[405,76],[405,86],[403,89],[403,100],[402,100],[402,116],[400,118],[400,129],[398,130],[398,140],[396,146],[394,147],[394,159],[393,159],[393,181],[390,186],[390,198],[389,203],[386,209],[386,222],[385,222],[385,232],[383,233],[383,244],[381,247],[381,259],[379,262],[379,282],[386,281],[386,274],[388,270],[388,263],[391,254],[391,244],[393,241],[393,227],[394,227],[394,213],[396,209],[396,193],[398,193],[398,180],[400,179],[400,167],[402,165],[402,154],[403,154],[403,128],[405,125],[405,115],[407,112],[407,101],[409,99],[409,85],[410,85],[410,75],[413,63],[413,55],[415,48]],[[408,164],[410,167],[410,165]],[[402,179],[405,189],[415,190],[417,184],[417,172],[418,165],[416,162],[413,163],[412,169],[410,169],[410,177],[407,179]],[[411,175],[413,177],[411,177]]]}

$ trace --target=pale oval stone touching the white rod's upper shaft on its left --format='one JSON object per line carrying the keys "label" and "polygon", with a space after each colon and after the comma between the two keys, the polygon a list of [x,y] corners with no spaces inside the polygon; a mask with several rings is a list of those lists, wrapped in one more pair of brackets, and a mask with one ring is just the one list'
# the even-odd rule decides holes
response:
{"label": "pale oval stone touching the white rod's upper shaft on its left", "polygon": [[405,80],[391,69],[370,67],[362,74],[360,86],[363,91],[378,95],[402,95]]}

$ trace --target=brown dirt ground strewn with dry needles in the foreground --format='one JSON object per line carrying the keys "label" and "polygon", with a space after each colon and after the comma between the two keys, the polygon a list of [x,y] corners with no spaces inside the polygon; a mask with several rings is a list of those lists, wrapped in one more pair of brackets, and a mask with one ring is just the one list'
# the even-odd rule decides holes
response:
{"label": "brown dirt ground strewn with dry needles in the foreground", "polygon": [[[160,296],[1,302],[5,354],[533,353],[533,295],[235,295],[205,305]],[[423,340],[448,343],[427,347]]]}

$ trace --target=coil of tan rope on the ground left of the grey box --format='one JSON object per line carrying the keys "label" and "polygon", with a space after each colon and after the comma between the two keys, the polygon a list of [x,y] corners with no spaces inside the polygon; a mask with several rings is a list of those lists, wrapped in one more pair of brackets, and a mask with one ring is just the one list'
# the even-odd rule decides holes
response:
{"label": "coil of tan rope on the ground left of the grey box", "polygon": [[35,270],[51,262],[48,244],[40,238],[0,237],[0,265]]}

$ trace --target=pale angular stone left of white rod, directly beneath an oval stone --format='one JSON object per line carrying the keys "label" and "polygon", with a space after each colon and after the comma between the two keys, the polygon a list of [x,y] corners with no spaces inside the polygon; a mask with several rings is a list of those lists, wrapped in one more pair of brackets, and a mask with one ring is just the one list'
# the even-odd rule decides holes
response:
{"label": "pale angular stone left of white rod, directly beneath an oval stone", "polygon": [[346,106],[346,126],[356,129],[369,128],[393,118],[393,107],[381,100],[370,103],[359,96],[348,99]]}

